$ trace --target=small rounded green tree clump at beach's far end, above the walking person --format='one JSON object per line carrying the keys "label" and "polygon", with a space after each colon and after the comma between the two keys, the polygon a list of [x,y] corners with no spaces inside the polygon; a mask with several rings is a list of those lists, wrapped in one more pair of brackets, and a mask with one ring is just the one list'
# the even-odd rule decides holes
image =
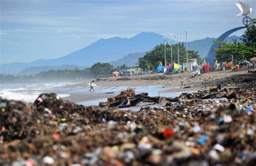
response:
{"label": "small rounded green tree clump at beach's far end, above the walking person", "polygon": [[91,67],[91,72],[95,76],[111,74],[113,70],[114,67],[109,63],[96,63]]}

